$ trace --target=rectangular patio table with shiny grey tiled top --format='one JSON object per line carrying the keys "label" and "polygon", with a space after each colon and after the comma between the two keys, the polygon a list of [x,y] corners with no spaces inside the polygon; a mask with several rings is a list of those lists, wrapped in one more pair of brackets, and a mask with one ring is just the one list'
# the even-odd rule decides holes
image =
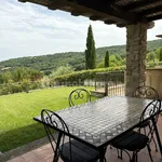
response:
{"label": "rectangular patio table with shiny grey tiled top", "polygon": [[[100,149],[114,137],[134,129],[139,123],[143,109],[150,102],[125,96],[104,97],[56,113],[66,122],[72,137]],[[42,122],[41,117],[33,119]]]}

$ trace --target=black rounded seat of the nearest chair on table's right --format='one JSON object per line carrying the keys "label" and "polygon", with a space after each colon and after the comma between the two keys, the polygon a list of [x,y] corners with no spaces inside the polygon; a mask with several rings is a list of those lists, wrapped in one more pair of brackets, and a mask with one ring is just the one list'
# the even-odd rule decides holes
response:
{"label": "black rounded seat of the nearest chair on table's right", "polygon": [[145,148],[148,141],[149,138],[146,135],[131,131],[117,138],[111,145],[118,149],[134,151]]}

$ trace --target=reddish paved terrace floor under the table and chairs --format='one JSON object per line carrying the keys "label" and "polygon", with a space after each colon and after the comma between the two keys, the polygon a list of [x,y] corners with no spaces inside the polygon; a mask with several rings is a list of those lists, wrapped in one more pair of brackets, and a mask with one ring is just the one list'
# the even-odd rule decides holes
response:
{"label": "reddish paved terrace floor under the table and chairs", "polygon": [[[159,118],[158,122],[159,133],[162,140],[162,116]],[[152,144],[152,157],[154,162],[162,162],[162,158],[159,152],[154,151],[154,146]],[[19,157],[9,160],[8,162],[52,162],[53,151],[51,145],[44,145],[40,148],[26,152]],[[123,160],[117,158],[117,151],[114,148],[107,148],[106,152],[107,162],[129,162],[129,157],[123,153]],[[59,160],[62,162],[62,160]],[[148,152],[146,149],[141,150],[138,157],[138,162],[150,162]]]}

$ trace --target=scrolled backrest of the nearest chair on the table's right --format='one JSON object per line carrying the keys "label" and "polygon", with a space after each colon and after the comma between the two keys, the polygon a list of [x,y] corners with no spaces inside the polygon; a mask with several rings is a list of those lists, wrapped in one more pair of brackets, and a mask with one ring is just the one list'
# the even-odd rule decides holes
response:
{"label": "scrolled backrest of the nearest chair on the table's right", "polygon": [[[146,122],[146,118],[149,118],[149,129],[148,126],[139,126],[138,132],[145,133],[149,137],[149,140],[152,139],[154,133],[154,124],[158,122],[159,114],[161,112],[161,100],[156,99],[150,102],[146,108],[143,110],[140,116],[139,123],[143,125]],[[143,130],[143,131],[141,131]]]}

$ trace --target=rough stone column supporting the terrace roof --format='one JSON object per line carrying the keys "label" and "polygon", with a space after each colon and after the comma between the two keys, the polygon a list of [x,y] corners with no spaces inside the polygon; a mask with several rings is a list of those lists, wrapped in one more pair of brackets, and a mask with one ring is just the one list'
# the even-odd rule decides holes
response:
{"label": "rough stone column supporting the terrace roof", "polygon": [[126,96],[146,81],[147,28],[143,23],[126,27]]}

